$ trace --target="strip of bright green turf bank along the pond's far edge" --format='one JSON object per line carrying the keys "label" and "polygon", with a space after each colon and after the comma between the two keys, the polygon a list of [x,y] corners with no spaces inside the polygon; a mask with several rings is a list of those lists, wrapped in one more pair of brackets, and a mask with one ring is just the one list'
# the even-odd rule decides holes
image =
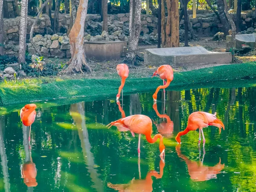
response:
{"label": "strip of bright green turf bank along the pond's far edge", "polygon": [[[223,65],[200,70],[175,73],[169,90],[183,90],[199,87],[242,87],[246,81],[235,83],[234,79],[256,78],[256,63]],[[221,82],[220,82],[221,81]],[[226,81],[226,82],[225,82]],[[128,78],[124,93],[136,93],[155,90],[162,84],[159,78]],[[252,84],[251,82],[249,84]],[[254,81],[253,81],[254,84]],[[16,105],[21,103],[55,99],[69,101],[76,98],[95,98],[115,96],[120,79],[27,79],[0,84],[0,105]]]}

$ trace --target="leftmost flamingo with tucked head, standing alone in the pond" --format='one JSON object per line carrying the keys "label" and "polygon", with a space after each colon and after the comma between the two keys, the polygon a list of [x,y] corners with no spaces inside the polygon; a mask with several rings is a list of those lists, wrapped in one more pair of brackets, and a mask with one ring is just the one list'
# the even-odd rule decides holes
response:
{"label": "leftmost flamingo with tucked head, standing alone in the pond", "polygon": [[20,118],[22,120],[23,125],[29,126],[29,142],[30,142],[31,125],[35,121],[35,116],[36,116],[35,109],[36,109],[35,104],[27,104],[20,110]]}

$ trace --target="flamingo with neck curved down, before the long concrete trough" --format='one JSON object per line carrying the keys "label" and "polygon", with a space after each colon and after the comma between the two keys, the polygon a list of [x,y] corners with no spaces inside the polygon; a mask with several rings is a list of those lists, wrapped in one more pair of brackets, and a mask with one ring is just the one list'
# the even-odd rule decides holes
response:
{"label": "flamingo with neck curved down, before the long concrete trough", "polygon": [[[154,102],[157,101],[158,91],[160,89],[163,89],[163,92],[165,93],[165,88],[168,87],[171,81],[173,80],[172,67],[170,65],[161,65],[160,67],[157,68],[157,70],[154,72],[152,77],[156,76],[157,74],[160,76],[160,79],[163,79],[163,85],[158,86],[156,92],[153,94]],[[166,83],[165,83],[165,79],[167,80]],[[164,94],[164,100],[165,100],[165,94]]]}

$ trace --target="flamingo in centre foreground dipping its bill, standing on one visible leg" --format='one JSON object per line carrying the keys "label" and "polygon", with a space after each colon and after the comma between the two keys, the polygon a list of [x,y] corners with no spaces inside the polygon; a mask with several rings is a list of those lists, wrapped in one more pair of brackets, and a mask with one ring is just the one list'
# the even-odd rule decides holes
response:
{"label": "flamingo in centre foreground dipping its bill, standing on one visible leg", "polygon": [[116,126],[119,128],[126,128],[131,131],[132,134],[139,134],[139,143],[138,143],[138,156],[140,157],[140,135],[143,134],[146,136],[146,140],[149,143],[155,143],[157,139],[160,139],[159,150],[160,157],[164,156],[165,146],[163,145],[163,136],[161,134],[156,134],[154,138],[151,138],[152,134],[152,121],[148,116],[145,115],[131,115],[125,118],[111,122],[107,126]]}

